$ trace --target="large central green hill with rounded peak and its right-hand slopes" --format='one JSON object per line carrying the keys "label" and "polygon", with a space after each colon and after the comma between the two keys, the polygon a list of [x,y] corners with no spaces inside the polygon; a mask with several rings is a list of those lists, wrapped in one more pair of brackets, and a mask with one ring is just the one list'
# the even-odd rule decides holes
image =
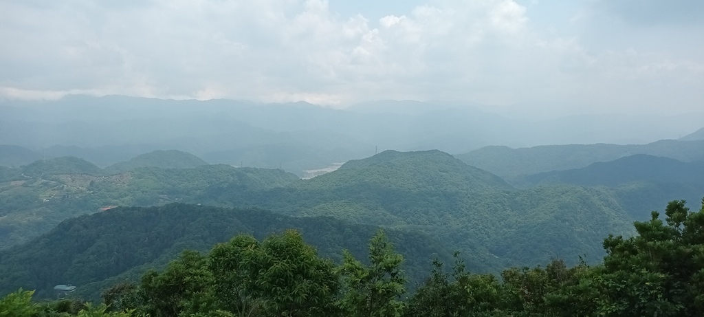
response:
{"label": "large central green hill with rounded peak and its right-hand slopes", "polygon": [[560,185],[517,191],[440,151],[385,151],[287,187],[249,192],[218,186],[204,194],[231,206],[420,229],[449,249],[466,251],[472,271],[556,256],[598,261],[603,251],[594,237],[632,232],[631,219],[610,189]]}

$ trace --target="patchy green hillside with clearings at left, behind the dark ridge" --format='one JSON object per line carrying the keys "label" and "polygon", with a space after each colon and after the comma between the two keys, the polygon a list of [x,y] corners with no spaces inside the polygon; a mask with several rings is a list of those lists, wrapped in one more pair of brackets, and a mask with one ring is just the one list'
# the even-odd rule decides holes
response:
{"label": "patchy green hillside with clearings at left, behind the dark ridge", "polygon": [[[47,163],[50,161],[47,160]],[[18,178],[13,169],[3,169]],[[0,173],[5,174],[3,170]],[[61,221],[111,206],[172,202],[212,203],[208,188],[227,185],[258,191],[298,180],[283,170],[206,165],[198,168],[137,168],[116,175],[44,175],[0,181],[0,249],[27,242]]]}

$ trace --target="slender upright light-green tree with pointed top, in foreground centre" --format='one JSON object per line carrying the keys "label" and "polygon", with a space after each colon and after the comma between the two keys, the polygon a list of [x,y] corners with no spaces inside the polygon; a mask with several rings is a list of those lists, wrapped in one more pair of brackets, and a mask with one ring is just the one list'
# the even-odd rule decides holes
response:
{"label": "slender upright light-green tree with pointed top, in foreground centre", "polygon": [[406,277],[401,271],[403,256],[394,251],[382,230],[369,244],[370,266],[344,251],[339,273],[344,285],[340,306],[346,316],[397,317],[404,304],[399,298],[406,293]]}

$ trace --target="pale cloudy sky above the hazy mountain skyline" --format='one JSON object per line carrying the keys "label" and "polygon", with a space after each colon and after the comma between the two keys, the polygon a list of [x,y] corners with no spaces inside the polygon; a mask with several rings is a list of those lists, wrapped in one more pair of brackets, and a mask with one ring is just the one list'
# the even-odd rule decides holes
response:
{"label": "pale cloudy sky above the hazy mountain skyline", "polygon": [[0,97],[704,111],[701,0],[0,0]]}

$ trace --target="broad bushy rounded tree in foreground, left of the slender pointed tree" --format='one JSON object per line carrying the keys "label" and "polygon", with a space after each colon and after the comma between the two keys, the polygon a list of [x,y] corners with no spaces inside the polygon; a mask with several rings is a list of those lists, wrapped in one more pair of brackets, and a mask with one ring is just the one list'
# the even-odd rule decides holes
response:
{"label": "broad bushy rounded tree in foreground, left of the slender pointed tree", "polygon": [[240,315],[259,307],[274,316],[334,313],[339,290],[334,263],[318,257],[296,230],[270,235],[261,243],[235,237],[211,251],[210,269],[218,303]]}

